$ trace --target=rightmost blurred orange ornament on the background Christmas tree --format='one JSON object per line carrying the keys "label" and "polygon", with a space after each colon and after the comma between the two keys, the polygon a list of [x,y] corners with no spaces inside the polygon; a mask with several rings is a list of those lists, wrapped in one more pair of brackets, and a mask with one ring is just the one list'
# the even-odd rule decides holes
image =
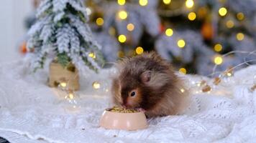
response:
{"label": "rightmost blurred orange ornament on the background Christmas tree", "polygon": [[211,25],[211,23],[206,22],[201,27],[201,34],[206,40],[211,40],[214,37],[214,27]]}

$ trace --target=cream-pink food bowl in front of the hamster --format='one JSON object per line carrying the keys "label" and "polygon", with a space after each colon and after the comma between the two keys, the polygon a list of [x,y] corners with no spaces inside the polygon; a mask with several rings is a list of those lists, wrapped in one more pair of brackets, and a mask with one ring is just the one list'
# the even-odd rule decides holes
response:
{"label": "cream-pink food bowl in front of the hamster", "polygon": [[99,122],[105,129],[137,130],[147,128],[147,119],[143,112],[119,113],[104,111]]}

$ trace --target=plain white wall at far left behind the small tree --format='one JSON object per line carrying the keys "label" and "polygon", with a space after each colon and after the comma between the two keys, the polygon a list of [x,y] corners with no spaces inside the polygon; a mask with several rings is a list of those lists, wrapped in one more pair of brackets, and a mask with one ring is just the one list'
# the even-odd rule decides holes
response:
{"label": "plain white wall at far left behind the small tree", "polygon": [[0,62],[19,59],[18,44],[25,29],[24,19],[32,11],[32,0],[0,1]]}

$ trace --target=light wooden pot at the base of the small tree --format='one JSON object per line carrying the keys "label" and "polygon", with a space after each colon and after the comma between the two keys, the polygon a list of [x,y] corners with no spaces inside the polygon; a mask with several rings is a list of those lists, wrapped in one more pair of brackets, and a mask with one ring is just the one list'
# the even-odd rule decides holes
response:
{"label": "light wooden pot at the base of the small tree", "polygon": [[49,87],[58,87],[62,82],[67,84],[67,89],[78,90],[80,88],[78,69],[73,64],[63,67],[61,64],[52,61],[48,79]]}

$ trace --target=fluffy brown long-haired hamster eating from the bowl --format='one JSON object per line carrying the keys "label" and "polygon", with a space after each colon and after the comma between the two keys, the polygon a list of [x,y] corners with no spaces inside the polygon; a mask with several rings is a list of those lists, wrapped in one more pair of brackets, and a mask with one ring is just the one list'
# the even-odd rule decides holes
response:
{"label": "fluffy brown long-haired hamster eating from the bowl", "polygon": [[141,109],[147,117],[180,114],[188,106],[183,80],[155,52],[123,59],[116,67],[111,85],[114,104]]}

